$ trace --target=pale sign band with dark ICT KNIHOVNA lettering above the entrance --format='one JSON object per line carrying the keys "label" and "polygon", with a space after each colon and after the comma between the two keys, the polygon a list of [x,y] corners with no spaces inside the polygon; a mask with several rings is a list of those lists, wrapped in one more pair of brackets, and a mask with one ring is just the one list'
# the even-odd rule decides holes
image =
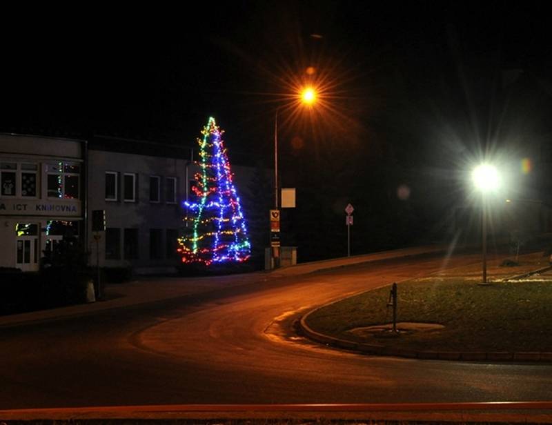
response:
{"label": "pale sign band with dark ICT KNIHOVNA lettering above the entrance", "polygon": [[0,199],[0,215],[45,215],[81,217],[81,201]]}

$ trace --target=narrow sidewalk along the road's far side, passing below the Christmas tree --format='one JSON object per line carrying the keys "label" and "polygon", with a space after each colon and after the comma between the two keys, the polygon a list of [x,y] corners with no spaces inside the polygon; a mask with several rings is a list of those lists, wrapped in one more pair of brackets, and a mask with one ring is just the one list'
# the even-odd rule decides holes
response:
{"label": "narrow sidewalk along the road's far side, passing below the Christmas tree", "polygon": [[0,328],[17,326],[32,322],[50,322],[66,317],[91,315],[103,310],[123,308],[148,302],[184,297],[190,294],[205,293],[228,286],[254,284],[268,279],[305,275],[319,270],[328,270],[353,266],[355,264],[382,261],[384,259],[411,257],[428,253],[444,252],[442,246],[422,246],[400,250],[384,251],[354,257],[342,257],[324,261],[297,264],[271,270],[242,275],[211,276],[211,277],[145,277],[125,284],[112,284],[105,288],[105,299],[89,304],[77,304],[50,310],[39,310],[17,315],[0,316]]}

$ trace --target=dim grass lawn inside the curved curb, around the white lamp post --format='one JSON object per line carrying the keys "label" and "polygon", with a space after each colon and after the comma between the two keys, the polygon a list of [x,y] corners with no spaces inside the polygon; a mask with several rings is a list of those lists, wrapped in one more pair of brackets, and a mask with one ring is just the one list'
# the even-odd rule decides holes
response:
{"label": "dim grass lawn inside the curved curb, around the white lamp post", "polygon": [[495,281],[489,286],[477,285],[481,264],[397,285],[397,322],[444,328],[405,331],[394,338],[362,333],[362,328],[391,322],[392,310],[386,307],[390,286],[321,308],[307,324],[341,339],[411,350],[552,351],[552,281],[498,280],[548,266],[548,259],[538,253],[520,257],[516,267],[500,262],[489,264],[489,279]]}

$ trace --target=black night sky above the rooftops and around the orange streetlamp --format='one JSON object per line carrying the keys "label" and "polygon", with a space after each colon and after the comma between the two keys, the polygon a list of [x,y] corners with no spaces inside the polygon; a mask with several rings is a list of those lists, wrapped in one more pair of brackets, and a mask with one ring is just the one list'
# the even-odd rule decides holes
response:
{"label": "black night sky above the rooftops and around the orange streetlamp", "polygon": [[0,126],[193,144],[214,115],[228,146],[257,150],[270,144],[277,101],[312,80],[326,84],[331,110],[310,129],[282,117],[284,137],[391,137],[408,128],[408,111],[426,111],[423,121],[487,108],[504,66],[546,72],[546,3],[480,3],[14,10],[1,30]]}

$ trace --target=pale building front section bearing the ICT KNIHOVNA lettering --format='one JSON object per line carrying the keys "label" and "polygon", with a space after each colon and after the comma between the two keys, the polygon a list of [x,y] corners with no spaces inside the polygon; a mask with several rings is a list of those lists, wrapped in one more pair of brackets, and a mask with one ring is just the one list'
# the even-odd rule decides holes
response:
{"label": "pale building front section bearing the ICT KNIHOVNA lettering", "polygon": [[63,237],[83,238],[86,141],[0,134],[0,267],[39,270]]}

